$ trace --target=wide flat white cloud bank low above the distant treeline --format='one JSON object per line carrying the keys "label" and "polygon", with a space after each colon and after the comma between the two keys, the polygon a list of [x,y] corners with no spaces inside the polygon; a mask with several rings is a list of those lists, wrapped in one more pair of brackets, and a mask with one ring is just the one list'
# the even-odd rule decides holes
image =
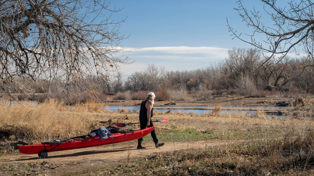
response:
{"label": "wide flat white cloud bank low above the distant treeline", "polygon": [[215,47],[149,47],[127,48],[130,61],[134,63],[122,65],[121,71],[130,75],[134,72],[144,71],[148,64],[163,66],[166,70],[193,70],[205,68],[213,62],[228,57],[229,48]]}

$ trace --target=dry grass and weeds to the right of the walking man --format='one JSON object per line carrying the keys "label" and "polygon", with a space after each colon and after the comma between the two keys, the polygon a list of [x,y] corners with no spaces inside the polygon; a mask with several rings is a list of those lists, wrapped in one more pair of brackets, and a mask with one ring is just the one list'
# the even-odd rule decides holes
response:
{"label": "dry grass and weeds to the right of the walking man", "polygon": [[[231,144],[211,148],[158,153],[149,162],[131,162],[130,166],[111,172],[151,175],[311,175],[314,174],[313,121],[294,118],[268,118],[263,113],[226,115],[160,114],[171,123],[158,128],[217,131],[222,141]],[[241,138],[236,138],[243,133]],[[215,140],[215,139],[212,139]]]}

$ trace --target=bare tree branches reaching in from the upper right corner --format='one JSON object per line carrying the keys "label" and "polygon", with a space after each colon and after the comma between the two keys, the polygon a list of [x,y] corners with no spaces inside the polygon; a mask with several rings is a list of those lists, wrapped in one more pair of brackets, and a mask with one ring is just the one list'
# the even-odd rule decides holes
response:
{"label": "bare tree branches reaching in from the upper right corner", "polygon": [[[227,19],[232,36],[269,55],[259,65],[260,67],[269,63],[269,60],[279,63],[288,53],[305,54],[306,60],[303,62],[303,69],[313,67],[314,3],[310,0],[290,0],[284,7],[280,7],[279,1],[276,0],[261,0],[261,2],[264,4],[264,11],[266,15],[269,15],[270,20],[263,22],[261,12],[255,8],[247,10],[242,1],[239,0],[237,2],[238,8],[234,9],[238,11],[245,25],[252,29],[252,33],[244,35],[238,33]],[[264,15],[263,19],[265,19]],[[269,24],[271,22],[273,23]],[[261,37],[261,35],[264,40],[257,40],[256,38]]]}

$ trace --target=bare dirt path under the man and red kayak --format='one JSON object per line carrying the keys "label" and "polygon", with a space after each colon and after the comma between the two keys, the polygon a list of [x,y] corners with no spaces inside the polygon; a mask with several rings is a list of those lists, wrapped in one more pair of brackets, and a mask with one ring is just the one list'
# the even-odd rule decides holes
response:
{"label": "bare dirt path under the man and red kayak", "polygon": [[[228,141],[230,142],[230,141]],[[59,152],[48,153],[48,158],[41,159],[37,154],[8,154],[0,156],[0,164],[5,163],[41,163],[44,160],[53,163],[73,163],[91,160],[110,160],[113,158],[117,162],[126,161],[128,158],[144,158],[149,154],[175,151],[190,148],[207,148],[215,145],[221,145],[225,142],[217,141],[197,141],[197,142],[173,142],[166,143],[160,148],[155,148],[154,143],[144,143],[146,149],[136,149],[136,144],[132,143],[116,143],[112,145],[97,146],[90,148],[79,148],[74,150],[65,150]]]}

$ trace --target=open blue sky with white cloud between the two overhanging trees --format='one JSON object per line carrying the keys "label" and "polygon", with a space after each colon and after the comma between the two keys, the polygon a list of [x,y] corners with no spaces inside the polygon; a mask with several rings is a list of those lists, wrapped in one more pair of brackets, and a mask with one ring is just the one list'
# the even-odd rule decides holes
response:
{"label": "open blue sky with white cloud between the two overhanging trees", "polygon": [[[243,3],[263,11],[259,1]],[[121,45],[127,47],[124,54],[129,61],[134,61],[121,65],[125,75],[143,71],[148,64],[168,71],[206,68],[227,58],[231,48],[252,48],[232,39],[228,31],[227,18],[237,30],[248,30],[233,9],[236,0],[111,1],[114,6],[123,8],[111,18],[126,18],[119,31],[129,37]]]}

